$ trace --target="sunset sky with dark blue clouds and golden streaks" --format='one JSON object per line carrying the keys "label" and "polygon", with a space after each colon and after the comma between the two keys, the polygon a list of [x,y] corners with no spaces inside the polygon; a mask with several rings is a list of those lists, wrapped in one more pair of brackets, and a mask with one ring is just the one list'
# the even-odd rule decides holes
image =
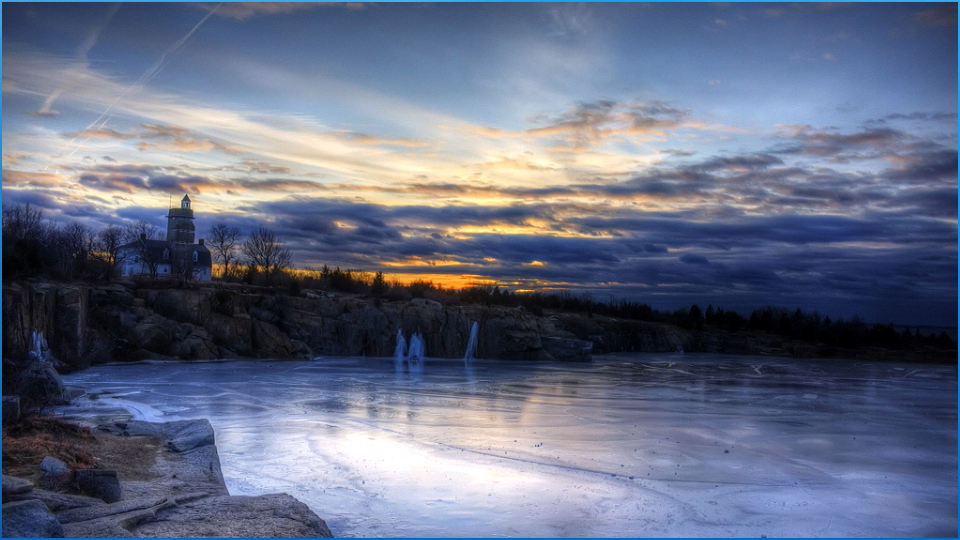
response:
{"label": "sunset sky with dark blue clouds and golden streaks", "polygon": [[957,324],[957,5],[3,3],[3,203],[324,264]]}

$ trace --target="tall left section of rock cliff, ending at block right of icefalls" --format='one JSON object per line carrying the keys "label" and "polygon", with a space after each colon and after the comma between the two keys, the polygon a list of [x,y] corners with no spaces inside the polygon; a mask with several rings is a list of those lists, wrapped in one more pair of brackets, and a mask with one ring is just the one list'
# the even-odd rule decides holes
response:
{"label": "tall left section of rock cliff, ending at block right of icefalls", "polygon": [[[293,296],[242,287],[114,284],[64,292],[52,284],[12,284],[4,287],[4,308],[5,355],[25,351],[29,331],[52,332],[52,352],[68,369],[150,358],[388,357],[398,331],[420,333],[428,356],[462,358],[473,322],[480,325],[480,358],[551,359],[543,338],[587,341],[523,309],[320,291]],[[57,314],[64,310],[72,315],[60,328]]]}

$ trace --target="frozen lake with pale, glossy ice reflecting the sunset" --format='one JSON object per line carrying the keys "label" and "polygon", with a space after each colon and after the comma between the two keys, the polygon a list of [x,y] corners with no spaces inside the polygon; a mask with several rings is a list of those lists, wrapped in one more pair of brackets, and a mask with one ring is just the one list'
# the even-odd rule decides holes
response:
{"label": "frozen lake with pale, glossy ice reflecting the sunset", "polygon": [[141,419],[208,418],[234,495],[346,536],[957,536],[957,369],[718,355],[106,365]]}

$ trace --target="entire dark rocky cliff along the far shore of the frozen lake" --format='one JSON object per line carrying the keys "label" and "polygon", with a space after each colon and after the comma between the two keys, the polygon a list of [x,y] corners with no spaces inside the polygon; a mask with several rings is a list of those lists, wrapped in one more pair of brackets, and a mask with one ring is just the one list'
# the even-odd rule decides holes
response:
{"label": "entire dark rocky cliff along the far shore of the frozen lake", "polygon": [[428,356],[461,358],[474,322],[477,357],[488,359],[585,361],[611,352],[686,351],[930,360],[923,351],[837,351],[759,332],[697,332],[582,313],[537,316],[522,308],[313,290],[290,295],[238,285],[133,282],[3,288],[4,359],[25,356],[31,332],[40,331],[67,370],[147,358],[389,357],[398,331],[421,333]]}

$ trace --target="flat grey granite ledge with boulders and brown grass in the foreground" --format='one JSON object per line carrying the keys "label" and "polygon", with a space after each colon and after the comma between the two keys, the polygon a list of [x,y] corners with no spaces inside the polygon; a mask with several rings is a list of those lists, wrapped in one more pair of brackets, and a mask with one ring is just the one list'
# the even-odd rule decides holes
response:
{"label": "flat grey granite ledge with boulders and brown grass in the foreground", "polygon": [[[322,519],[285,493],[230,495],[206,420],[118,422],[99,426],[95,436],[105,456],[98,468],[71,471],[44,458],[39,483],[50,489],[4,474],[4,537],[333,536]],[[111,458],[105,449],[113,445],[120,448]],[[133,459],[129,448],[137,449]]]}

